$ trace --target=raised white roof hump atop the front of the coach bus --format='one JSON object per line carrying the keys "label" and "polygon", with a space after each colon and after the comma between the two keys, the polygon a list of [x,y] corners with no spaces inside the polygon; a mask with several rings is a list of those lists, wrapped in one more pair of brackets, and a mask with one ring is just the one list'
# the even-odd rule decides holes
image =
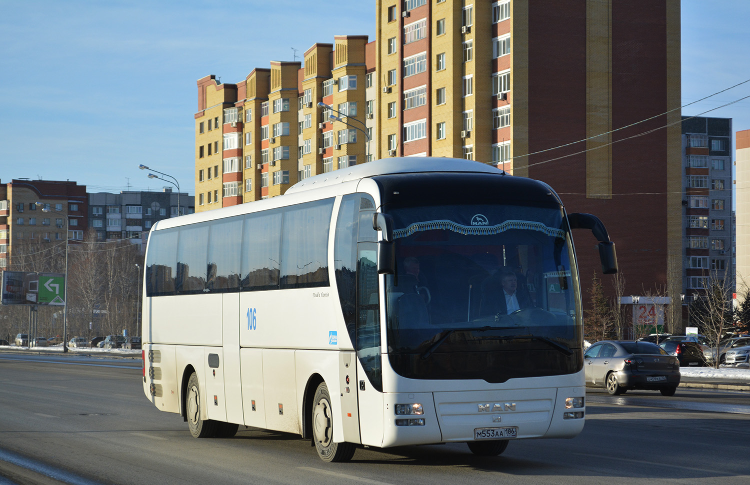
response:
{"label": "raised white roof hump atop the front of the coach bus", "polygon": [[374,177],[375,175],[386,175],[392,173],[414,173],[414,172],[484,172],[498,174],[502,170],[486,163],[464,158],[446,157],[391,157],[374,160],[362,165],[338,169],[333,172],[314,175],[299,181],[287,189],[286,193],[297,193],[302,190],[317,189],[333,184],[341,184],[360,178]]}

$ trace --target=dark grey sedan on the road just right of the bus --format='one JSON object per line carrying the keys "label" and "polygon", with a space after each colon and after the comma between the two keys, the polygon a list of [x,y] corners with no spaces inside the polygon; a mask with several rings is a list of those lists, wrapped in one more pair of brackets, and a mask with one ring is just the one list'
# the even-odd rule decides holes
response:
{"label": "dark grey sedan on the road just right of the bus", "polygon": [[586,385],[616,396],[629,389],[659,391],[673,396],[679,385],[679,361],[650,342],[601,340],[583,354]]}

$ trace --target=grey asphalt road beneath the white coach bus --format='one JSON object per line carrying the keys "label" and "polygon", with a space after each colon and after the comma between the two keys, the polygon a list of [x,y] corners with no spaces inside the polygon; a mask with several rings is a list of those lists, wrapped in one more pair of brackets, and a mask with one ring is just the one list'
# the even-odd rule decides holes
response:
{"label": "grey asphalt road beneath the white coach bus", "polygon": [[148,402],[140,376],[139,359],[0,354],[0,485],[750,482],[747,393],[592,391],[575,439],[511,442],[495,458],[460,444],[360,448],[350,463],[323,463],[284,433],[193,439]]}

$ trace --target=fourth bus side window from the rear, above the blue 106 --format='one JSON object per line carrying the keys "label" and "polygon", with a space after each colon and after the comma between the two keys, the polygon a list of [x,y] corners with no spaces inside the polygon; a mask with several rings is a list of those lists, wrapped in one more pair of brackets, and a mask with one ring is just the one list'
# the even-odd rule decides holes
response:
{"label": "fourth bus side window from the rear, above the blue 106", "polygon": [[250,214],[242,232],[242,290],[277,289],[281,211]]}

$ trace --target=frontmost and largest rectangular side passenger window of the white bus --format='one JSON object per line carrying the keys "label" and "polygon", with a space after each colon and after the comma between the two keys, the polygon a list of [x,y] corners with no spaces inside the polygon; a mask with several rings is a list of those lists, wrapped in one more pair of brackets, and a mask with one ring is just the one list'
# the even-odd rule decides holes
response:
{"label": "frontmost and largest rectangular side passenger window of the white bus", "polygon": [[329,286],[328,235],[333,199],[284,211],[281,288]]}

